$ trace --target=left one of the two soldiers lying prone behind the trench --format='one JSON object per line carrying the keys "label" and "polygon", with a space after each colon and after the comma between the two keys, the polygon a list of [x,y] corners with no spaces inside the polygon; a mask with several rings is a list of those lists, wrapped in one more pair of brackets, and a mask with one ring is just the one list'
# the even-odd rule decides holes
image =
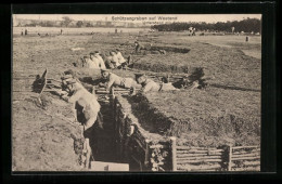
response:
{"label": "left one of the two soldiers lying prone behind the trench", "polygon": [[102,79],[106,80],[105,89],[107,91],[111,91],[111,88],[113,86],[117,86],[125,89],[134,89],[134,88],[141,88],[140,84],[138,84],[133,79],[131,78],[123,78],[119,77],[113,73],[110,73],[107,69],[101,70]]}

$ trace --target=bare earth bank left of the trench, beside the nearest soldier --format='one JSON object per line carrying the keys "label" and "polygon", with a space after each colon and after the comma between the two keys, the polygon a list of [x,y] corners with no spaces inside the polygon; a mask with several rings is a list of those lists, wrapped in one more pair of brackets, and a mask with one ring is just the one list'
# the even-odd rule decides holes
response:
{"label": "bare earth bank left of the trench, beside the nearest soldier", "polygon": [[12,170],[81,171],[81,132],[72,107],[50,93],[13,101]]}

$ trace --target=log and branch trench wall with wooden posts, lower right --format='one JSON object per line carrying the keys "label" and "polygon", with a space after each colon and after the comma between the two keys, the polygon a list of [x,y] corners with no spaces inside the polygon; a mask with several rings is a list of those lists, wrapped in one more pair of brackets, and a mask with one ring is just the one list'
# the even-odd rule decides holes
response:
{"label": "log and branch trench wall with wooden posts, lower right", "polygon": [[176,137],[144,130],[131,114],[130,103],[112,96],[118,155],[133,159],[141,171],[260,171],[260,146],[178,146]]}

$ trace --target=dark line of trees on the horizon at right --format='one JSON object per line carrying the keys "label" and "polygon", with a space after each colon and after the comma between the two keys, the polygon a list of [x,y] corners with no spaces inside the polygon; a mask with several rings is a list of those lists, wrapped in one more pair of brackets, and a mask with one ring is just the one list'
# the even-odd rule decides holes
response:
{"label": "dark line of trees on the horizon at right", "polygon": [[[243,21],[233,21],[233,22],[217,22],[217,23],[172,23],[172,24],[163,24],[163,25],[153,25],[152,29],[158,31],[183,31],[188,30],[190,27],[194,27],[197,31],[244,31],[244,32],[261,32],[261,19],[258,18],[246,18]],[[233,29],[232,29],[233,27]]]}

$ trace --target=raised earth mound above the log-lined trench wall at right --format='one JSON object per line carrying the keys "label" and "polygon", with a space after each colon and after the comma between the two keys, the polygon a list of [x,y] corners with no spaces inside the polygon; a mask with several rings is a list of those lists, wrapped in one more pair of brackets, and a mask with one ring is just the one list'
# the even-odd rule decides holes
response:
{"label": "raised earth mound above the log-lined trench wall at right", "polygon": [[179,145],[217,147],[260,143],[258,98],[254,92],[207,89],[148,93],[128,101],[145,130],[177,136]]}

